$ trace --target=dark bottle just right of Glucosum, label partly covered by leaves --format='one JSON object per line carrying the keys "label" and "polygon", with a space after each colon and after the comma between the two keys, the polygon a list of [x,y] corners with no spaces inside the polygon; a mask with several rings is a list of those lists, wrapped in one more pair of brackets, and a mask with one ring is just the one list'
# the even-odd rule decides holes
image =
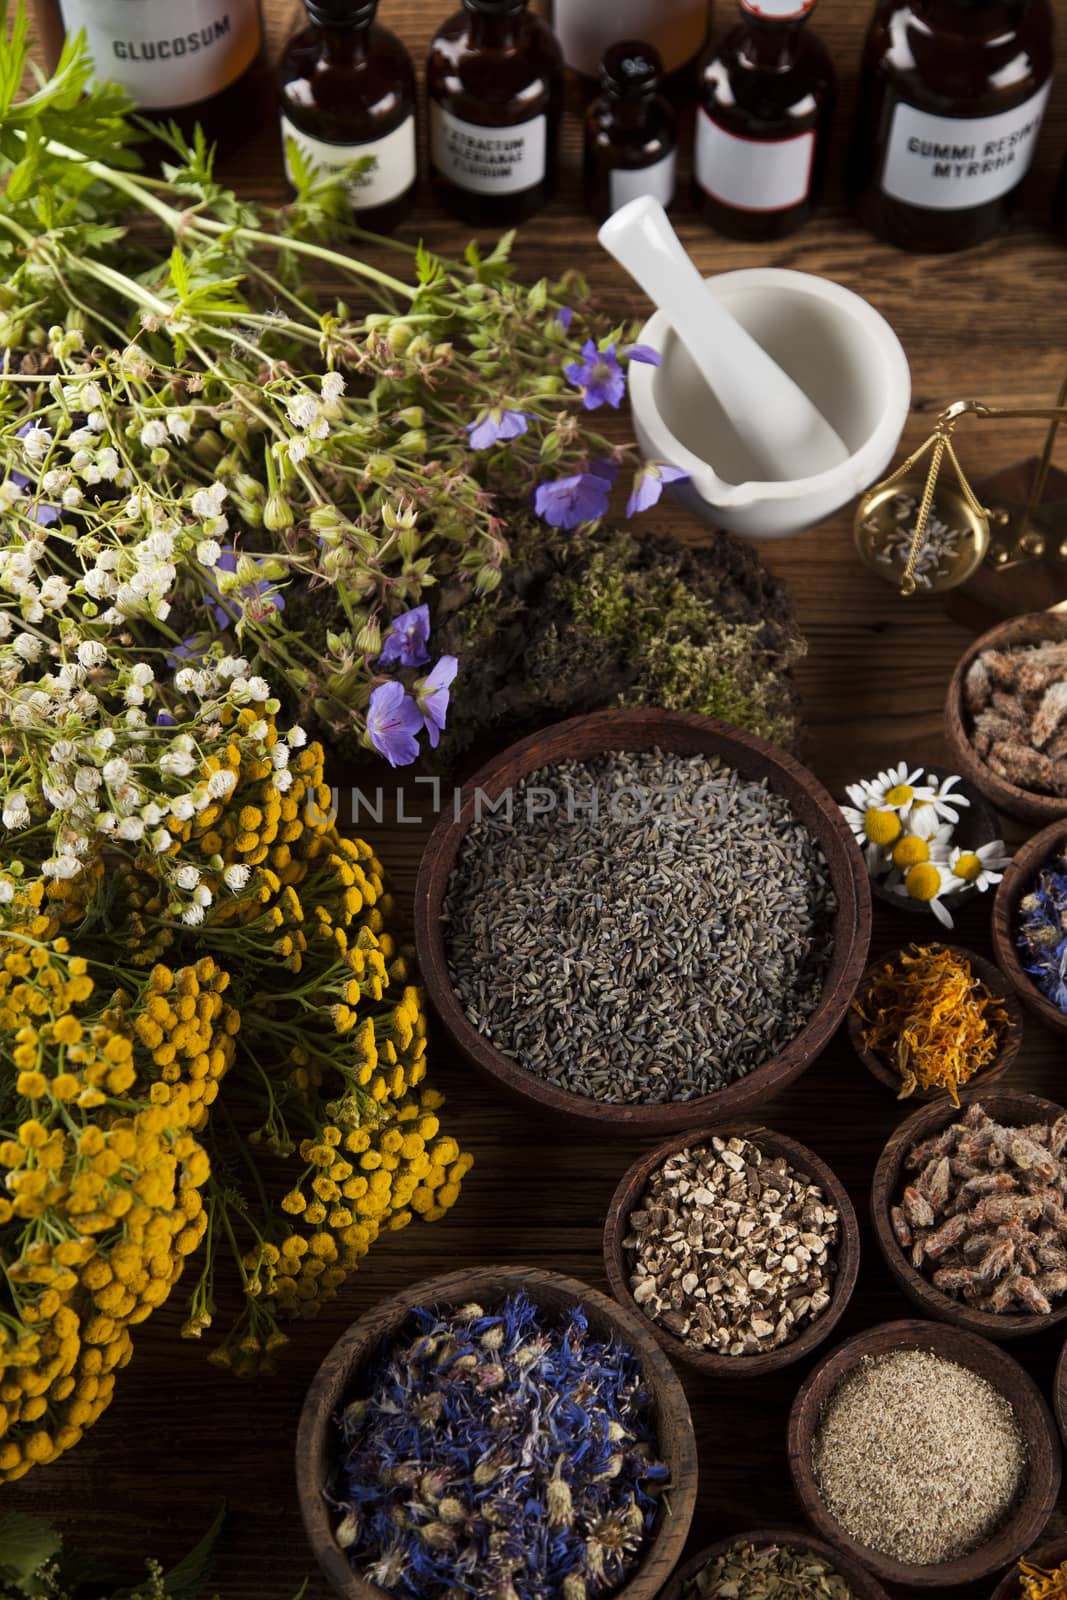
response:
{"label": "dark bottle just right of Glucosum, label partly covered by leaves", "polygon": [[378,0],[304,0],[309,26],[278,62],[286,173],[291,146],[336,171],[370,158],[349,195],[362,227],[389,234],[408,216],[418,173],[411,56],[374,18]]}

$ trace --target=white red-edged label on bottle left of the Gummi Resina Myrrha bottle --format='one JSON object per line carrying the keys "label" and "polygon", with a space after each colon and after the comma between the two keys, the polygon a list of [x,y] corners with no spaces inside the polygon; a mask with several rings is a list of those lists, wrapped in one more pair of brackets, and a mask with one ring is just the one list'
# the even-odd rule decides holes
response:
{"label": "white red-edged label on bottle left of the Gummi Resina Myrrha bottle", "polygon": [[704,107],[696,123],[693,168],[701,189],[737,211],[787,211],[811,189],[814,128],[792,139],[742,139]]}

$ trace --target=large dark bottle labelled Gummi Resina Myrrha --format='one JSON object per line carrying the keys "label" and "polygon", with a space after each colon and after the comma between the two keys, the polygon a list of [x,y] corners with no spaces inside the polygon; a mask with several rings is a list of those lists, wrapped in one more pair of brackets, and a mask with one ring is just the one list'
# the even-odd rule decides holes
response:
{"label": "large dark bottle labelled Gummi Resina Myrrha", "polygon": [[1053,77],[1049,0],[883,0],[864,50],[849,190],[912,251],[1001,230],[1037,149]]}

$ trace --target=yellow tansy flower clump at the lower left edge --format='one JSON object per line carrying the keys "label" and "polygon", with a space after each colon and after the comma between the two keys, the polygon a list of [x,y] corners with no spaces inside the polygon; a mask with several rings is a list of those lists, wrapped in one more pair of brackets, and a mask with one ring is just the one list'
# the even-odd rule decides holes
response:
{"label": "yellow tansy flower clump at the lower left edge", "polygon": [[205,1234],[195,1131],[234,1056],[237,1013],[211,957],[155,966],[102,1003],[37,920],[0,939],[0,1478],[75,1445],[110,1402],[130,1330]]}

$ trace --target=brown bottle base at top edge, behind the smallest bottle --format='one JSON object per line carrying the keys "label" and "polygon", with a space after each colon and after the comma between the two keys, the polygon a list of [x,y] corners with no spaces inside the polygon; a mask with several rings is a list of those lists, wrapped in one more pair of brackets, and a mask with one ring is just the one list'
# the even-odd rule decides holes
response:
{"label": "brown bottle base at top edge, behind the smallest bottle", "polygon": [[568,67],[589,78],[624,38],[654,45],[664,70],[675,72],[704,48],[707,0],[555,0],[552,26]]}

